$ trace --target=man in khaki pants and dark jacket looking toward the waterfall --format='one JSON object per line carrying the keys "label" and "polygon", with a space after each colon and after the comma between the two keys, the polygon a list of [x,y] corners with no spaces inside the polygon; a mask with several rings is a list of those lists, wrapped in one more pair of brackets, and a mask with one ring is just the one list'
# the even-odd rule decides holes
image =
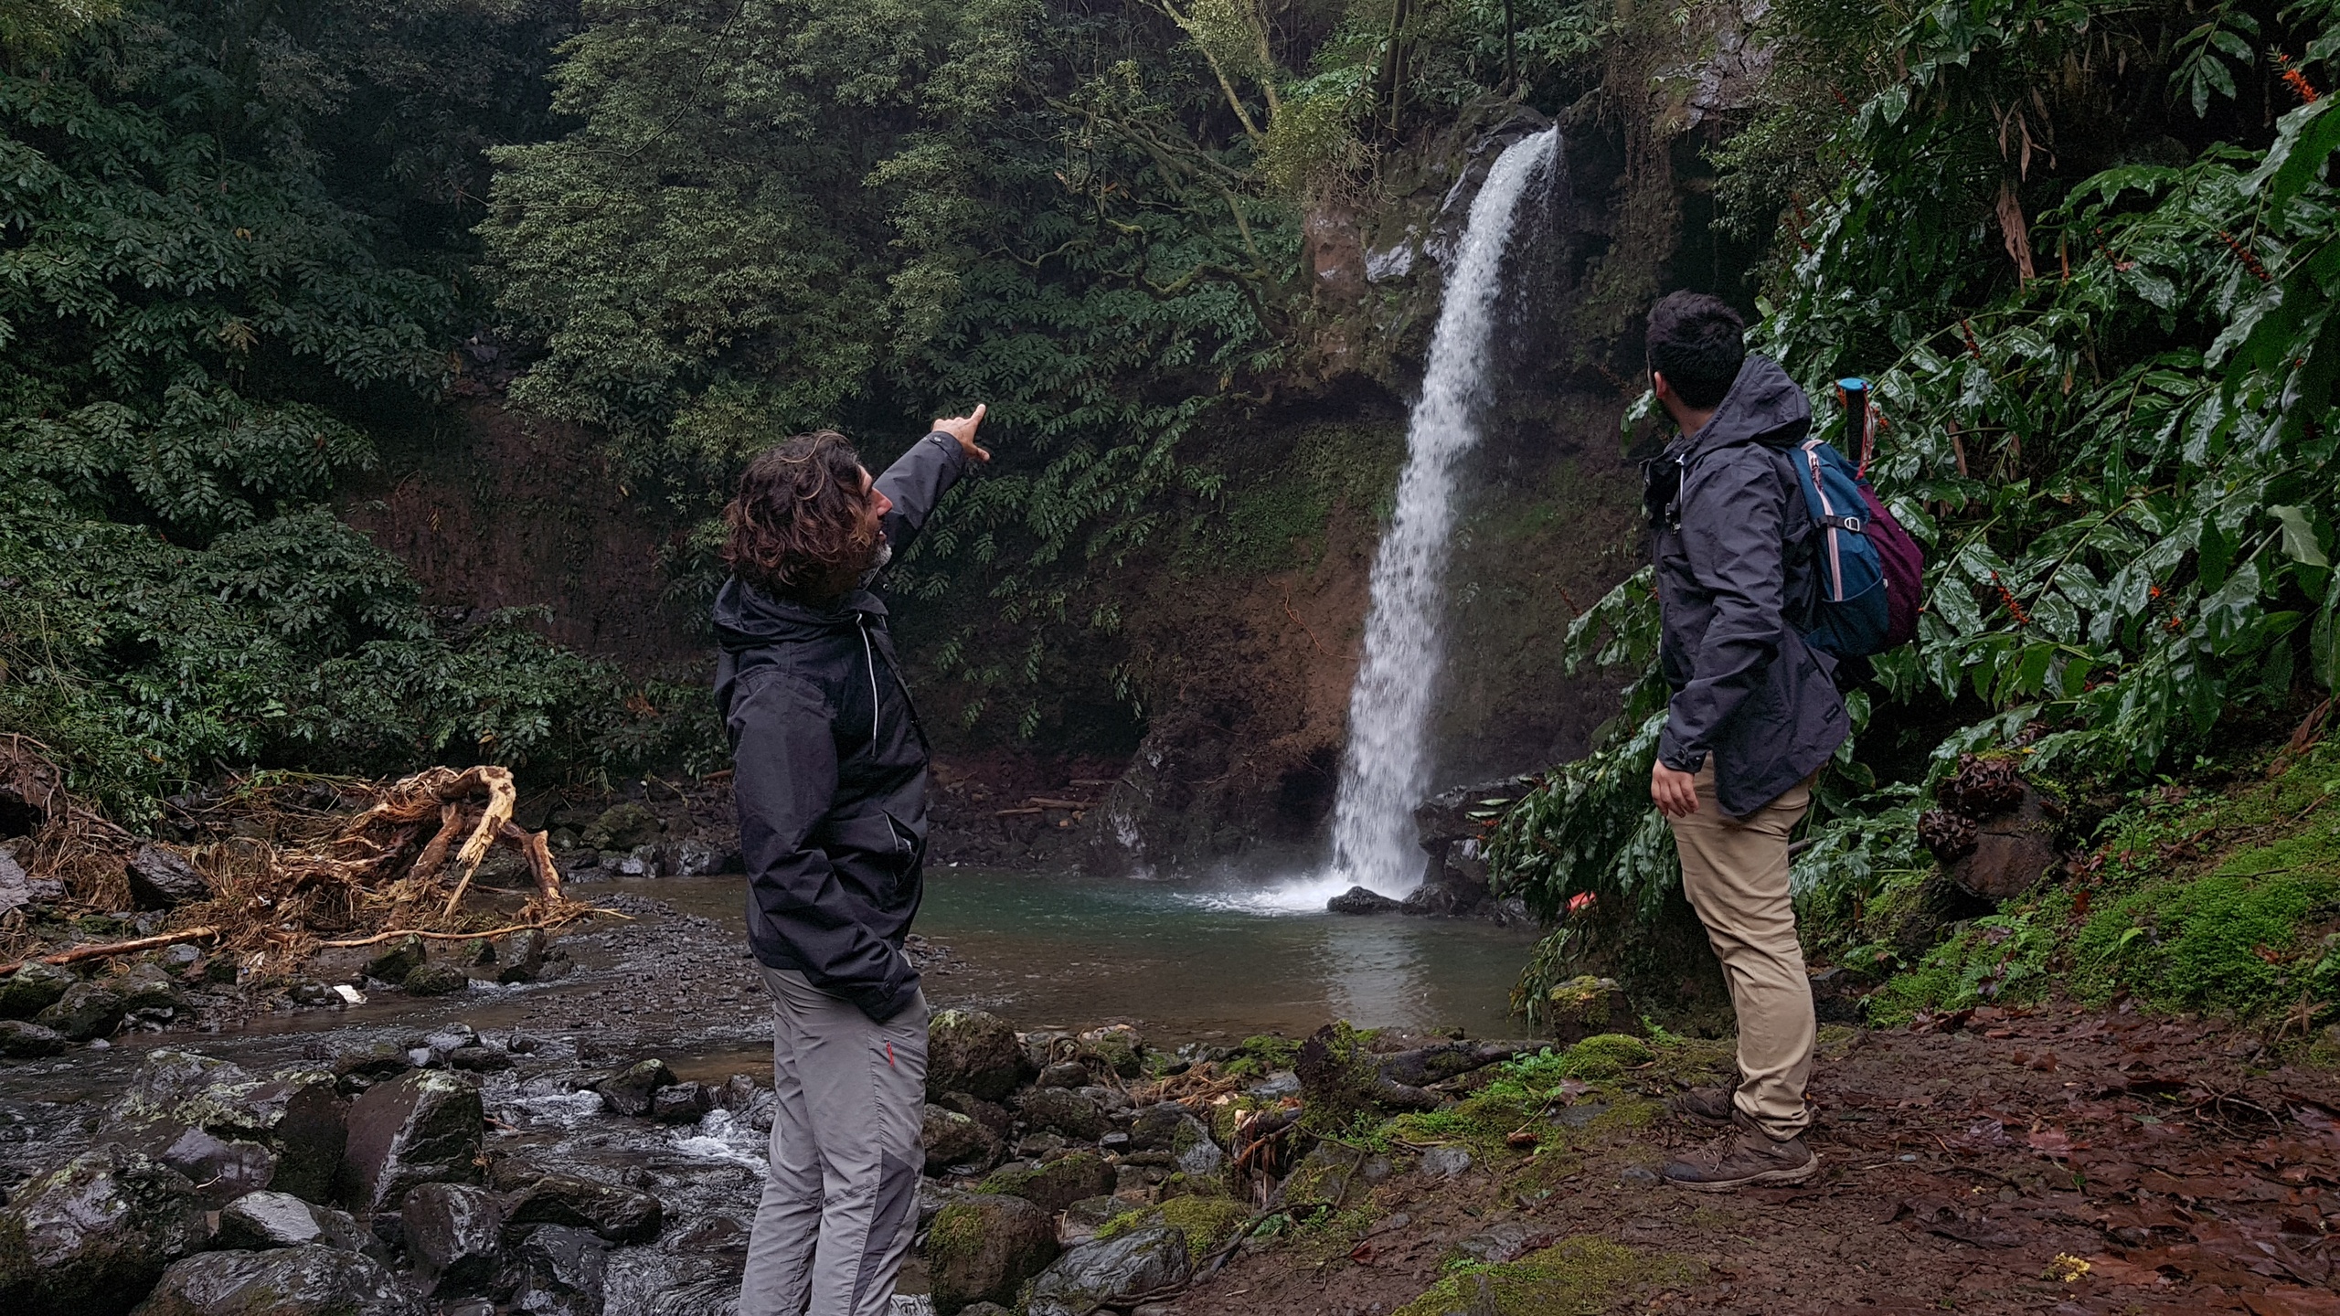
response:
{"label": "man in khaki pants and dark jacket looking toward the waterfall", "polygon": [[1748,356],[1743,328],[1699,293],[1650,309],[1650,389],[1682,431],[1643,466],[1673,691],[1650,798],[1673,824],[1682,895],[1739,1014],[1736,1089],[1675,1098],[1682,1115],[1732,1129],[1666,1166],[1666,1180],[1696,1190],[1804,1183],[1821,1166],[1804,1145],[1814,1016],[1788,836],[1849,728],[1832,660],[1797,632],[1816,564],[1785,454],[1811,429],[1811,403],[1778,363]]}

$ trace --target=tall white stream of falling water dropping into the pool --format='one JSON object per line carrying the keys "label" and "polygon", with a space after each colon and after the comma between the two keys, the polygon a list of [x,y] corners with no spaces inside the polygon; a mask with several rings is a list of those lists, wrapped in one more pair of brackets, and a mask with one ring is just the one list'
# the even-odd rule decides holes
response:
{"label": "tall white stream of falling water dropping into the pool", "polygon": [[1374,557],[1374,606],[1364,665],[1348,695],[1348,754],[1334,810],[1334,871],[1324,885],[1404,895],[1420,885],[1413,803],[1430,775],[1423,733],[1444,642],[1439,635],[1446,541],[1453,534],[1455,461],[1479,443],[1488,398],[1488,333],[1502,293],[1502,253],[1528,187],[1544,178],[1558,129],[1512,143],[1470,206],[1462,248],[1446,276],[1446,304],[1430,337],[1423,398],[1406,429],[1397,515]]}

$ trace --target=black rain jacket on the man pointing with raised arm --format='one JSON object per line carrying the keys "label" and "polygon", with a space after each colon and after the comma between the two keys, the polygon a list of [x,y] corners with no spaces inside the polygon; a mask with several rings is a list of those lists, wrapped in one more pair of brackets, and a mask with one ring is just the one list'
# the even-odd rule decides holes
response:
{"label": "black rain jacket on the man pointing with raised arm", "polygon": [[[910,548],[964,471],[959,440],[929,433],[878,478],[894,501],[885,518],[894,553]],[[870,1019],[892,1019],[917,998],[901,941],[924,895],[927,731],[885,604],[859,588],[814,609],[732,576],[714,621],[749,946]]]}

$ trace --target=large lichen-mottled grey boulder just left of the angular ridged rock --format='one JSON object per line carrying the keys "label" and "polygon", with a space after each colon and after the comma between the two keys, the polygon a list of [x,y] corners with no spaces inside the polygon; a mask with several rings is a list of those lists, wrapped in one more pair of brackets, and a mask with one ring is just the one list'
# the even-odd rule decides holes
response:
{"label": "large lichen-mottled grey boulder just left of the angular ridged rock", "polygon": [[274,1187],[323,1201],[349,1140],[346,1115],[325,1070],[253,1077],[227,1061],[154,1049],[108,1108],[108,1129],[197,1183],[218,1178],[227,1197]]}

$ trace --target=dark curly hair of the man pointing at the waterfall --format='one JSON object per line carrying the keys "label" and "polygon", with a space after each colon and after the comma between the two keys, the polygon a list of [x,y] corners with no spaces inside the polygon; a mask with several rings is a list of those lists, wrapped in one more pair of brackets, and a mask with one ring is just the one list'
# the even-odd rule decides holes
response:
{"label": "dark curly hair of the man pointing at the waterfall", "polygon": [[782,440],[746,464],[723,508],[723,562],[772,597],[833,599],[878,548],[866,508],[852,440],[828,429]]}

